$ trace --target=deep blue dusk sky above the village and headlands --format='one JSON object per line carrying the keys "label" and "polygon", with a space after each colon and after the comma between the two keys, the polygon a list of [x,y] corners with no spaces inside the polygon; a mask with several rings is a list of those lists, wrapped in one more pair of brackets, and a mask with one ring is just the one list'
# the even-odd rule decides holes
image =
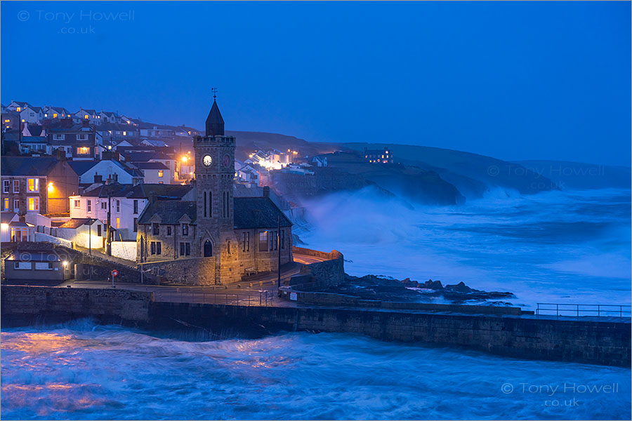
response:
{"label": "deep blue dusk sky above the village and headlands", "polygon": [[1,100],[202,128],[216,86],[229,130],[629,166],[630,15],[624,1],[3,1]]}

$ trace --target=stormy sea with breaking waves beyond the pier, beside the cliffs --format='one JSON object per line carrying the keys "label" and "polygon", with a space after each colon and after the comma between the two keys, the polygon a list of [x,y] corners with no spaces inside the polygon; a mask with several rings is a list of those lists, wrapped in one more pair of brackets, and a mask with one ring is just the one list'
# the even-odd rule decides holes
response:
{"label": "stormy sea with breaking waves beyond the pier, beside the cliffs", "polygon": [[496,192],[423,206],[369,188],[307,203],[307,247],[335,248],[345,272],[465,282],[514,305],[631,302],[630,190]]}

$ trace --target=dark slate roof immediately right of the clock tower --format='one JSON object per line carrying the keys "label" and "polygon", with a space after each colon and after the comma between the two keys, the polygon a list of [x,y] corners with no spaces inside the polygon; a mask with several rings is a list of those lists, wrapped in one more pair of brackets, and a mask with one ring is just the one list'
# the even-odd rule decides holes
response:
{"label": "dark slate roof immediately right of the clock tower", "polygon": [[274,228],[277,217],[282,227],[292,223],[269,197],[235,197],[235,229]]}

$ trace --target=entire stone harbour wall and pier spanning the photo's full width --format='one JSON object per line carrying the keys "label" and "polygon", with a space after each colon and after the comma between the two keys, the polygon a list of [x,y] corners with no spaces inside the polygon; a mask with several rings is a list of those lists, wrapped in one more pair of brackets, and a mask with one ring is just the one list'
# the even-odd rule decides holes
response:
{"label": "entire stone harbour wall and pier spanning the photo's full width", "polygon": [[158,302],[150,292],[133,290],[1,288],[3,326],[84,317],[147,330],[196,330],[204,334],[202,338],[258,338],[282,331],[342,332],[467,347],[520,359],[631,366],[631,323],[626,318]]}

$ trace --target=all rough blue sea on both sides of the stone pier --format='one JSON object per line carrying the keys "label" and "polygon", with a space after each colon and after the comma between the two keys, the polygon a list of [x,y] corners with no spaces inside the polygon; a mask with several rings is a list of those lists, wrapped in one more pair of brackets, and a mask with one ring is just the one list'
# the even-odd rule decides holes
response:
{"label": "all rough blue sea on both sides of the stone pier", "polygon": [[[630,303],[630,192],[409,206],[371,189],[310,203],[312,248],[350,274],[465,281],[515,304]],[[76,321],[1,333],[16,419],[631,419],[631,370],[287,333],[191,342]]]}

